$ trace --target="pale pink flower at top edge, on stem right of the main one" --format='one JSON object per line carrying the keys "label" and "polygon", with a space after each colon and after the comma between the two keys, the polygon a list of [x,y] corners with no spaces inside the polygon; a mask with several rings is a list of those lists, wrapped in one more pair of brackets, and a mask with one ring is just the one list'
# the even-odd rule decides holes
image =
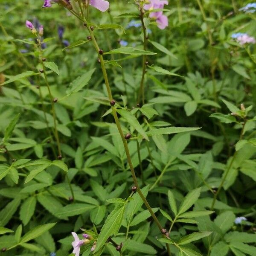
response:
{"label": "pale pink flower at top edge, on stem right of the main one", "polygon": [[[145,4],[143,7],[145,10],[163,9],[163,6],[168,5],[167,0],[149,0],[149,4]],[[149,17],[154,18],[157,21],[157,26],[160,29],[165,29],[168,26],[168,17],[163,15],[163,11],[151,12]]]}

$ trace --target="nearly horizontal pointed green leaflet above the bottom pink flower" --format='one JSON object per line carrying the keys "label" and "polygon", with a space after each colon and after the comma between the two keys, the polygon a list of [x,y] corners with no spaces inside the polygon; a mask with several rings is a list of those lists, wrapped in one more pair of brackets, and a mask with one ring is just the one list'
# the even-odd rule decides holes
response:
{"label": "nearly horizontal pointed green leaflet above the bottom pink flower", "polygon": [[61,209],[58,209],[55,212],[55,215],[58,218],[70,217],[70,216],[80,215],[84,212],[92,210],[95,207],[96,207],[95,205],[91,205],[91,204],[68,204],[67,206],[62,207]]}

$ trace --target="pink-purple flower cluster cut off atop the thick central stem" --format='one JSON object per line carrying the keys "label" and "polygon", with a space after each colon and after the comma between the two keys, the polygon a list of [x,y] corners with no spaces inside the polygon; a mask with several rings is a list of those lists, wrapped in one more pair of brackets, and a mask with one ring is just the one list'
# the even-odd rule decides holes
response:
{"label": "pink-purple flower cluster cut off atop the thick central stem", "polygon": [[[44,0],[43,7],[51,7],[52,3],[58,3],[67,9],[73,9],[70,0]],[[87,0],[85,0],[84,3],[87,3]],[[109,8],[109,2],[106,0],[90,0],[90,5],[102,12],[105,12]]]}

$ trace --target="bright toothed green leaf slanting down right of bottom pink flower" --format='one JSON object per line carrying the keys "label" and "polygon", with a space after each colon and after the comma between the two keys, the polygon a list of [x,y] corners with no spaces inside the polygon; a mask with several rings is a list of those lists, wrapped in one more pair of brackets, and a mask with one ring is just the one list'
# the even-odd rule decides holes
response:
{"label": "bright toothed green leaf slanting down right of bottom pink flower", "polygon": [[120,205],[116,207],[109,215],[108,218],[106,219],[101,232],[99,233],[99,237],[97,239],[97,244],[95,248],[95,253],[100,250],[100,248],[105,244],[105,242],[108,240],[110,236],[116,236],[118,233],[121,224],[122,224],[122,219],[124,216],[125,212],[125,205]]}

